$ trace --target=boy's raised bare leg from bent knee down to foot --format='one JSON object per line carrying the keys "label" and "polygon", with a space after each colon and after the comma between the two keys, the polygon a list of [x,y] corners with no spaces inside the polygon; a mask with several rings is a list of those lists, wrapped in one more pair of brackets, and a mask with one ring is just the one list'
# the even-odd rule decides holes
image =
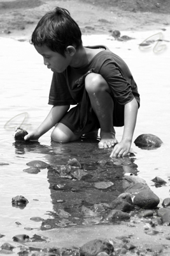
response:
{"label": "boy's raised bare leg from bent knee down to foot", "polygon": [[114,103],[110,95],[110,88],[101,75],[94,73],[90,73],[85,78],[85,88],[101,126],[99,148],[114,146],[118,141],[113,128]]}

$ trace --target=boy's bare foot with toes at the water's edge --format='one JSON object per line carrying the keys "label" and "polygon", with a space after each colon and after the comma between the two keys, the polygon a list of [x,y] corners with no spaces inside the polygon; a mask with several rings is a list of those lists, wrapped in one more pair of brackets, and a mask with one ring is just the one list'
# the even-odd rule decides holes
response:
{"label": "boy's bare foot with toes at the water's edge", "polygon": [[114,132],[101,132],[101,141],[98,144],[99,148],[110,148],[117,144]]}

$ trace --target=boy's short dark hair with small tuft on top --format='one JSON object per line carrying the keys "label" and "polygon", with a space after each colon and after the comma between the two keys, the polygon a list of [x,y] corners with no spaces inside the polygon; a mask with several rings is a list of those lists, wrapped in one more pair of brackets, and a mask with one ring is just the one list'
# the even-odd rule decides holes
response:
{"label": "boy's short dark hair with small tuft on top", "polygon": [[67,46],[73,45],[78,49],[82,44],[81,31],[66,9],[56,7],[39,20],[32,33],[31,44],[46,45],[53,52],[65,56]]}

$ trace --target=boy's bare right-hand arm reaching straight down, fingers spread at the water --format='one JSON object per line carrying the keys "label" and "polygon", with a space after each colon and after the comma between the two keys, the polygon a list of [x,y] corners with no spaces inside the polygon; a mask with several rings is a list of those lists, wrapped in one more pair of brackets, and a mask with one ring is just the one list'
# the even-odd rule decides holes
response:
{"label": "boy's bare right-hand arm reaching straight down, fingers spread at the water", "polygon": [[134,98],[133,100],[125,104],[124,134],[122,136],[122,140],[120,141],[120,143],[115,145],[115,147],[113,148],[110,157],[125,156],[129,152],[131,148],[134,128],[136,125],[137,114],[138,102]]}

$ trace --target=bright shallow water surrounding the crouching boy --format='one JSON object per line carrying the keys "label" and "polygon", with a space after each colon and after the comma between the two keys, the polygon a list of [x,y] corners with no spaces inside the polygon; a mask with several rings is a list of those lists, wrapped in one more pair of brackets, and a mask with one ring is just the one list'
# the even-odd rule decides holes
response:
{"label": "bright shallow water surrounding the crouching boy", "polygon": [[[129,65],[141,95],[141,108],[139,109],[134,140],[140,134],[152,133],[159,136],[164,142],[156,150],[142,150],[132,143],[131,151],[134,152],[136,158],[134,163],[138,165],[138,175],[143,177],[153,192],[163,200],[169,197],[170,184],[169,42],[164,42],[167,47],[158,54],[155,54],[153,49],[141,51],[138,48],[138,45],[145,38],[158,31],[126,32],[124,35],[128,34],[136,38],[128,42],[111,40],[111,36],[106,35],[83,36],[83,42],[84,45],[96,45],[98,42],[108,45]],[[170,40],[169,31],[170,28],[162,32],[166,40]],[[31,237],[35,233],[34,230],[49,228],[45,225],[45,221],[42,225],[42,221],[36,222],[30,218],[38,216],[44,220],[51,220],[49,223],[53,225],[55,214],[62,207],[55,201],[57,193],[53,189],[49,189],[53,183],[57,182],[50,170],[43,169],[36,175],[25,173],[23,170],[28,168],[26,163],[32,160],[41,160],[50,165],[54,163],[66,164],[69,159],[74,157],[86,166],[88,164],[95,166],[96,162],[102,159],[106,159],[111,164],[113,162],[110,159],[111,150],[98,150],[97,140],[82,139],[62,145],[50,141],[51,131],[42,136],[39,143],[32,145],[15,143],[12,136],[14,129],[23,122],[24,117],[22,127],[31,130],[41,124],[48,114],[51,108],[47,102],[52,72],[43,66],[43,59],[29,42],[18,42],[16,38],[0,38],[0,44],[0,162],[8,164],[0,166],[0,233],[5,235],[1,238],[1,244],[3,244],[4,242],[11,243],[12,237],[16,234],[28,234]],[[121,139],[122,131],[122,128],[116,129],[118,140]],[[108,171],[99,175],[101,180],[111,180],[110,166],[106,167]],[[92,170],[89,172],[93,174]],[[118,174],[114,173],[113,179],[118,180],[118,177],[121,177],[124,172],[131,172],[131,168],[130,170],[129,168],[118,169]],[[94,173],[96,173],[95,170]],[[98,173],[96,173],[96,179],[97,175]],[[166,180],[166,186],[155,188],[152,182],[155,176]],[[121,182],[116,181],[115,184],[117,185],[112,193],[117,196],[124,191],[124,188]],[[29,204],[24,209],[12,207],[11,198],[17,195],[23,195],[29,200]],[[79,198],[79,200],[81,199]],[[77,212],[71,211],[71,207],[68,208],[68,211],[76,218]],[[17,225],[16,221],[22,225]],[[72,220],[71,223],[74,225],[76,221]],[[25,230],[24,228],[33,228],[33,230]]]}

